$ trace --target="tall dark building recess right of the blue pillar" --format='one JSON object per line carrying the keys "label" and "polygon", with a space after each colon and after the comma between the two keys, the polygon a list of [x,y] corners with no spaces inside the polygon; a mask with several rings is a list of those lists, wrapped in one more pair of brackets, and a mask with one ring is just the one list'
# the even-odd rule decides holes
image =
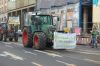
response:
{"label": "tall dark building recess right of the blue pillar", "polygon": [[81,28],[84,33],[90,33],[93,26],[93,7],[92,7],[92,0],[80,0],[81,2],[81,11],[80,11],[80,21],[81,21]]}

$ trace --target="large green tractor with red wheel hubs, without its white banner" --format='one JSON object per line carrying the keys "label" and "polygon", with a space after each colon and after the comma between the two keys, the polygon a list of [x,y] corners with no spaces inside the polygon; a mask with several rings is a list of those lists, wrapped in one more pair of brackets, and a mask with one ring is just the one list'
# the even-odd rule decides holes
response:
{"label": "large green tractor with red wheel hubs, without its white banner", "polygon": [[24,21],[23,45],[35,49],[52,48],[55,27],[51,15],[28,15]]}

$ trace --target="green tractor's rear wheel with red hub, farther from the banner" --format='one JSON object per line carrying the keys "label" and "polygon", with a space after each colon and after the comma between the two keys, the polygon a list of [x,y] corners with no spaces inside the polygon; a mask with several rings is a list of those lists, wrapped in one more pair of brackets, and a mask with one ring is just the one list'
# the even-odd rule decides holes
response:
{"label": "green tractor's rear wheel with red hub, farther from the banner", "polygon": [[33,47],[32,40],[33,40],[32,34],[28,32],[27,28],[24,28],[23,35],[22,35],[23,46],[27,48],[32,48]]}

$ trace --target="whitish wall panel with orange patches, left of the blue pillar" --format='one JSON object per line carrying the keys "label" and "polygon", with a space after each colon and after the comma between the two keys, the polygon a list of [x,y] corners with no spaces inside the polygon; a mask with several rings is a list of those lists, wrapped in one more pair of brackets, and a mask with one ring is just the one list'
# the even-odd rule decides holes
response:
{"label": "whitish wall panel with orange patches, left of the blue pillar", "polygon": [[68,28],[79,27],[79,3],[68,5],[67,26]]}

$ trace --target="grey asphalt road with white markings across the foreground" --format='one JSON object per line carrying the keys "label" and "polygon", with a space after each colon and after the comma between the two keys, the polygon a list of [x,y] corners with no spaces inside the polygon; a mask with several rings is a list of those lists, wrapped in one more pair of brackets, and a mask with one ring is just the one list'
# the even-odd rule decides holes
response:
{"label": "grey asphalt road with white markings across the foreground", "polygon": [[0,66],[100,66],[100,50],[40,51],[21,43],[0,42]]}

